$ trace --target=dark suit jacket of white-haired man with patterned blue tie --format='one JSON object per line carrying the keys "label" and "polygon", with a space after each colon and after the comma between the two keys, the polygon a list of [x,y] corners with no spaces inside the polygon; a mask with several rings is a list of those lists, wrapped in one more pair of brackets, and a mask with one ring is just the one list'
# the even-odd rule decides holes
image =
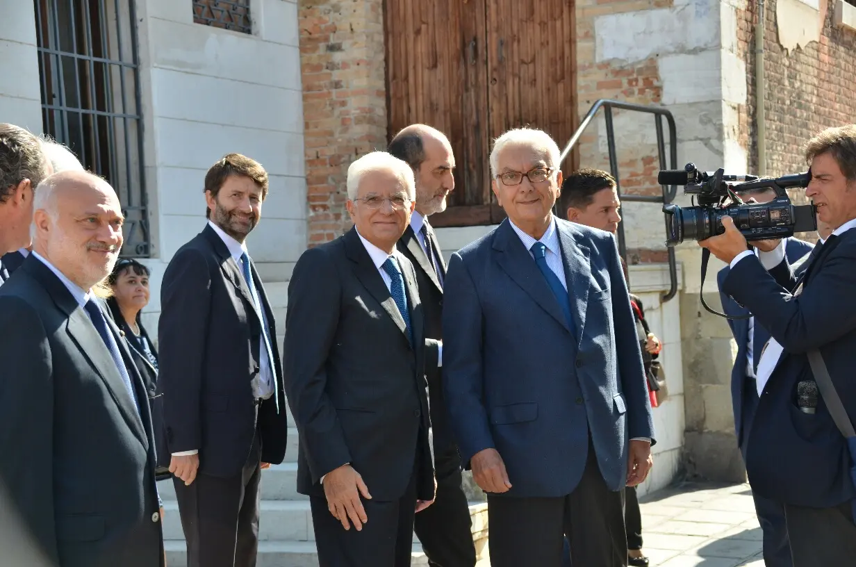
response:
{"label": "dark suit jacket of white-haired man with patterned blue tie", "polygon": [[433,498],[423,307],[413,266],[395,258],[413,345],[356,229],[306,250],[294,266],[283,352],[300,493],[324,497],[321,477],[351,463],[375,500],[401,498],[414,466],[417,498]]}

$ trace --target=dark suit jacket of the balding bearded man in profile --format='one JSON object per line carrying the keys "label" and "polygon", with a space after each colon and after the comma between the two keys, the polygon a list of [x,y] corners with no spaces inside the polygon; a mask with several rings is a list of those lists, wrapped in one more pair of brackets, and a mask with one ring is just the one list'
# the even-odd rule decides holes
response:
{"label": "dark suit jacket of the balding bearded man in profile", "polygon": [[[437,236],[431,230],[428,233],[431,245],[436,251],[437,264],[443,278],[446,276],[446,262],[440,254],[440,244]],[[407,230],[398,241],[398,250],[403,254],[416,271],[416,284],[419,286],[419,299],[425,313],[425,337],[443,340],[443,286],[437,278],[437,272],[431,265],[431,260],[413,228],[408,224]],[[449,427],[449,417],[446,412],[446,402],[443,399],[443,380],[441,367],[437,367],[437,349],[428,349],[425,364],[425,378],[428,380],[428,394],[431,406],[431,430],[434,435],[434,456],[437,459],[437,476],[442,477],[460,470],[461,457],[455,445],[455,437]],[[442,469],[440,470],[442,465]]]}

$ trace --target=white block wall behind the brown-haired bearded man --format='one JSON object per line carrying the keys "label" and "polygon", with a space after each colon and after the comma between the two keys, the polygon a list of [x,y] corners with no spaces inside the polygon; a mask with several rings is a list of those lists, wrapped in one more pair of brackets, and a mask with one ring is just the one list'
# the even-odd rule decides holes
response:
{"label": "white block wall behind the brown-haired bearded man", "polygon": [[205,172],[229,152],[270,176],[262,220],[247,240],[282,332],[287,281],[306,249],[306,172],[296,0],[253,0],[253,34],[193,23],[191,3],[138,0],[152,208],[156,328],[163,271],[205,226]]}

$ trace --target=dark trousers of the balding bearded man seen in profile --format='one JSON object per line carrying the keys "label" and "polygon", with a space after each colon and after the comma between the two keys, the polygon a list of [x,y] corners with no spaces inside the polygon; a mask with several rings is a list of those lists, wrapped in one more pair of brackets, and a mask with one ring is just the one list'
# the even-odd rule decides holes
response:
{"label": "dark trousers of the balding bearded man seen in profile", "polygon": [[470,508],[461,488],[458,463],[457,450],[437,457],[437,496],[434,504],[419,512],[413,522],[431,567],[474,567],[476,564]]}

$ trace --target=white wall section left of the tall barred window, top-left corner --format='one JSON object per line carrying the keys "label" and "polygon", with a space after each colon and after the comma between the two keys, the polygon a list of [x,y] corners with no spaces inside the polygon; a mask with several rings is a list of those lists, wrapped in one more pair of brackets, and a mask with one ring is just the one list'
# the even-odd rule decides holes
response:
{"label": "white wall section left of the tall barred window, top-left corner", "polygon": [[0,122],[42,132],[36,14],[32,2],[0,1]]}

